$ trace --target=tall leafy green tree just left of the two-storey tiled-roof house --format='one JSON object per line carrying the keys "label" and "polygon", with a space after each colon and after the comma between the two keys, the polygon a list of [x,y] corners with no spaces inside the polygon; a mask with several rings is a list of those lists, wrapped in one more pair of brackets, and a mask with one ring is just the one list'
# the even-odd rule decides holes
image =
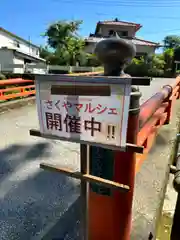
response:
{"label": "tall leafy green tree just left of the two-storey tiled-roof house", "polygon": [[[78,30],[82,21],[58,21],[49,26],[44,36],[47,37],[47,43],[53,49],[52,54],[47,54],[46,50],[42,51],[49,59],[50,63],[62,65],[75,65],[81,62],[84,40],[78,36]],[[58,60],[59,57],[59,60]]]}

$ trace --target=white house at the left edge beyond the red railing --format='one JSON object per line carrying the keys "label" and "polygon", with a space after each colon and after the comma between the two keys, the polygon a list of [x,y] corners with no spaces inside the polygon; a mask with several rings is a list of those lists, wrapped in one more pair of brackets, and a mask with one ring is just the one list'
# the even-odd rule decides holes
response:
{"label": "white house at the left edge beyond the red railing", "polygon": [[23,73],[26,63],[44,65],[45,60],[40,58],[39,50],[39,47],[30,41],[0,27],[1,71]]}

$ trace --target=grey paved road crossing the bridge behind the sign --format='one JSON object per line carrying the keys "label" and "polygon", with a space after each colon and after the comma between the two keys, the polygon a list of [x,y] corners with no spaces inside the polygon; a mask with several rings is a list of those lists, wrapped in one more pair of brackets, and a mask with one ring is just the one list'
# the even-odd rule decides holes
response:
{"label": "grey paved road crossing the bridge behind the sign", "polygon": [[[141,102],[172,79],[141,87]],[[37,128],[35,106],[0,115],[0,240],[40,239],[79,195],[79,182],[39,169],[42,160],[78,170],[79,145],[29,136]]]}

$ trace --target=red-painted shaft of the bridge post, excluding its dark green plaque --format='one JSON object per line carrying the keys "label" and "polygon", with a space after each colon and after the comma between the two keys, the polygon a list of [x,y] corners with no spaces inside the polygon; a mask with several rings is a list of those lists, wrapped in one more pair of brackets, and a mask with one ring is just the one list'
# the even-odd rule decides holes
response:
{"label": "red-painted shaft of the bridge post, excluding its dark green plaque", "polygon": [[[127,142],[136,144],[140,93],[131,98]],[[134,108],[134,110],[133,110]],[[108,150],[109,151],[109,150]],[[89,191],[89,239],[90,240],[129,240],[131,232],[131,213],[134,192],[136,156],[130,152],[113,152],[113,180],[130,186],[128,193],[114,191],[111,196],[103,196]]]}

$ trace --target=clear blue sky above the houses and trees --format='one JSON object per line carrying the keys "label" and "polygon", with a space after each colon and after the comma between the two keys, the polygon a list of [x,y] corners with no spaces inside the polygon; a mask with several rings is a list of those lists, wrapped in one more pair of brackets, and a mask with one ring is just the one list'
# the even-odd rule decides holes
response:
{"label": "clear blue sky above the houses and trees", "polygon": [[94,32],[99,20],[118,17],[141,23],[138,37],[161,42],[170,34],[180,35],[179,0],[1,0],[1,27],[34,44],[44,44],[40,36],[57,20],[82,19],[80,34]]}

